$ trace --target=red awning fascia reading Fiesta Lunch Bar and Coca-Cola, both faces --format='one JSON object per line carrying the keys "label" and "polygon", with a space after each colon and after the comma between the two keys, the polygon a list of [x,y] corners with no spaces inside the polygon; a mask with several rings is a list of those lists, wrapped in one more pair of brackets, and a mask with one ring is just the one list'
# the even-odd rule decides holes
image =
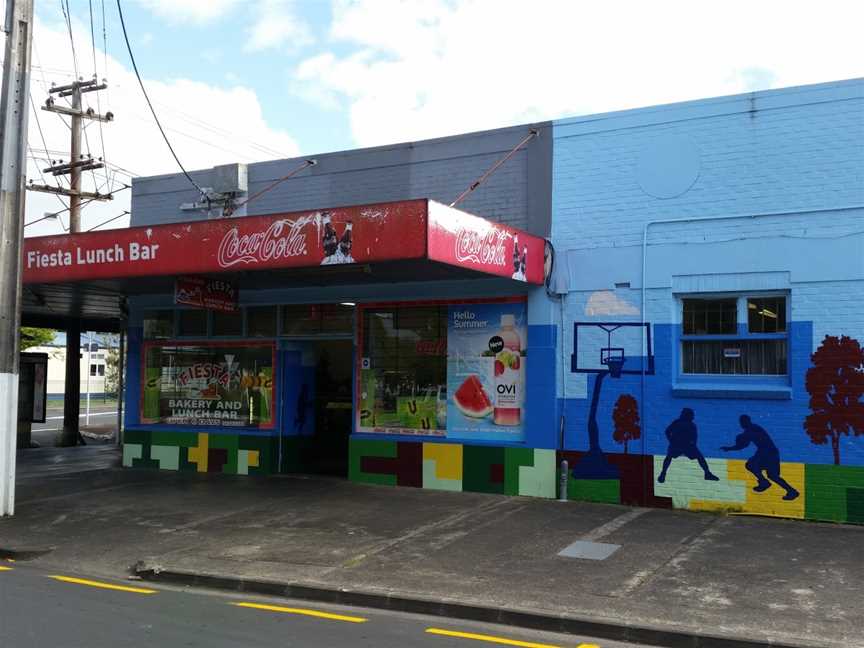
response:
{"label": "red awning fascia reading Fiesta Lunch Bar and Coca-Cola, both faces", "polygon": [[543,282],[544,241],[431,200],[131,227],[24,242],[25,283],[408,259]]}

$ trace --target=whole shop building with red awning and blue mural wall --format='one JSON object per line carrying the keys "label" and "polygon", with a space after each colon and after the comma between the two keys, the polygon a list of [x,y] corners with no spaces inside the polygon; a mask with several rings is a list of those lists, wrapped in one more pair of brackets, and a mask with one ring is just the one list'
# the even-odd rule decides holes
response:
{"label": "whole shop building with red awning and blue mural wall", "polygon": [[864,522],[862,95],[318,156],[245,218],[138,179],[129,230],[30,239],[25,280],[125,319],[127,466],[551,498],[566,460],[574,499]]}

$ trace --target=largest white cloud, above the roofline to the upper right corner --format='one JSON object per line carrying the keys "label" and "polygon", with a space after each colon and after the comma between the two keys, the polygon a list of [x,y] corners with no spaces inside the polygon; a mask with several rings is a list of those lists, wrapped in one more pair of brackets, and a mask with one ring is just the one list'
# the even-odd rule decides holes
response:
{"label": "largest white cloud, above the roofline to the upper right corner", "polygon": [[359,145],[864,75],[864,4],[337,0],[301,97]]}

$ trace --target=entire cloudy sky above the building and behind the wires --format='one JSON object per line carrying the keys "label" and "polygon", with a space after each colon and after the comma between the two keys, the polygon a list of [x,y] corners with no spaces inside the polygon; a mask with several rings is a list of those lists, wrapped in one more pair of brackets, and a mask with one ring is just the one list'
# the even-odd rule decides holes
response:
{"label": "entire cloudy sky above the building and behind the wires", "polygon": [[[187,169],[864,77],[858,0],[121,1]],[[35,7],[28,179],[54,184],[40,174],[46,158],[68,160],[68,127],[40,109],[52,83],[95,72],[108,88],[85,105],[115,115],[86,129],[85,149],[109,166],[84,189],[117,190],[84,208],[86,230],[129,209],[132,176],[179,169],[132,72],[116,0]],[[28,192],[25,220],[65,207]],[[65,226],[67,211],[25,232]]]}

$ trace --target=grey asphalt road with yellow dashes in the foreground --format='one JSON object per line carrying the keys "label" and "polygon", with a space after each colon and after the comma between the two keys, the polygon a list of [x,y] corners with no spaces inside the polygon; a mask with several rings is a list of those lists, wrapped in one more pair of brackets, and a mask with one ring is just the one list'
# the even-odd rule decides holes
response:
{"label": "grey asphalt road with yellow dashes in the foreground", "polygon": [[0,645],[635,648],[441,617],[156,588],[8,562],[0,563]]}

